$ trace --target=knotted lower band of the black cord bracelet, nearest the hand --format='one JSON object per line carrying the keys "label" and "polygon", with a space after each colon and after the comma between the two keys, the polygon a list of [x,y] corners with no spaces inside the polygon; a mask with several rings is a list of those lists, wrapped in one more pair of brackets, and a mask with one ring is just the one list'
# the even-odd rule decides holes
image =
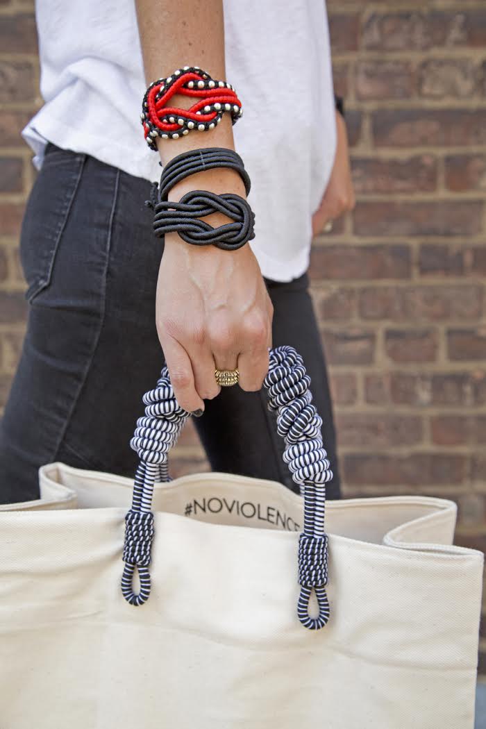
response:
{"label": "knotted lower band of the black cord bracelet, nearest the hand", "polygon": [[[235,222],[219,227],[209,225],[200,217],[220,212]],[[215,195],[208,190],[191,190],[179,203],[162,201],[155,206],[154,233],[179,233],[183,241],[194,246],[216,246],[235,251],[253,240],[255,215],[244,198],[230,192]]]}

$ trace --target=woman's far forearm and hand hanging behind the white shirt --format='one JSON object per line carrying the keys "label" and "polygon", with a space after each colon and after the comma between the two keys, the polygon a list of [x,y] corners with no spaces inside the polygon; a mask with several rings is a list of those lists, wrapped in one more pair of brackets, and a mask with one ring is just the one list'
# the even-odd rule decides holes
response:
{"label": "woman's far forearm and hand hanging behind the white shirt", "polygon": [[355,198],[349,162],[348,132],[346,131],[345,120],[340,112],[336,112],[336,127],[336,156],[334,157],[332,173],[324,197],[321,200],[321,205],[313,214],[313,235],[321,233],[327,223],[354,208]]}

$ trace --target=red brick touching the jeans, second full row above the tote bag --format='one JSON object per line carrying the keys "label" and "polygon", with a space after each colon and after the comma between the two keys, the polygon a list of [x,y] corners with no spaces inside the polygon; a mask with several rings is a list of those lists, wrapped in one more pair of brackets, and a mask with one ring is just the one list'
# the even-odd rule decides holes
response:
{"label": "red brick touching the jeans, second full row above the tote bag", "polygon": [[416,445],[423,438],[422,418],[388,413],[339,413],[337,435],[341,446],[388,448]]}

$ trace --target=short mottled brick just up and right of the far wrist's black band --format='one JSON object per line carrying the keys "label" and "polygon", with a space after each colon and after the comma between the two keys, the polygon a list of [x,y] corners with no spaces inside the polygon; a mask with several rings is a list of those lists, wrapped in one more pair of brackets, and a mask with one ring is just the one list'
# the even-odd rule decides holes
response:
{"label": "short mottled brick just up and right of the far wrist's black band", "polygon": [[354,85],[361,101],[410,98],[415,90],[412,66],[406,61],[360,61]]}

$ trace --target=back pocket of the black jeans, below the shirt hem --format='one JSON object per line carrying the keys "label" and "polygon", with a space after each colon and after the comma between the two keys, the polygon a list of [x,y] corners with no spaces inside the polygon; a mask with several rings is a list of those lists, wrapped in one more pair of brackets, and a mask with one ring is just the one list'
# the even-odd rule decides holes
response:
{"label": "back pocket of the black jeans, below the shirt hem", "polygon": [[52,148],[29,195],[20,234],[20,260],[26,299],[49,286],[52,268],[76,195],[86,155]]}

